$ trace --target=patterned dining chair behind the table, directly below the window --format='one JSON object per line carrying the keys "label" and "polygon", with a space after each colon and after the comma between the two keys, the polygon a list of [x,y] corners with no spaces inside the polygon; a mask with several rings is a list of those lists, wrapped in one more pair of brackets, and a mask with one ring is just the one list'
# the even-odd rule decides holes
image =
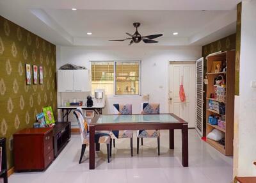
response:
{"label": "patterned dining chair behind the table, directly below the window", "polygon": [[[113,112],[115,115],[131,115],[132,114],[132,104],[113,104]],[[113,139],[113,146],[115,147],[115,139],[120,138],[130,138],[131,140],[131,156],[133,156],[133,131],[125,130],[125,131],[112,131],[111,132],[111,139],[110,145],[112,144]],[[110,147],[111,149],[112,147]]]}

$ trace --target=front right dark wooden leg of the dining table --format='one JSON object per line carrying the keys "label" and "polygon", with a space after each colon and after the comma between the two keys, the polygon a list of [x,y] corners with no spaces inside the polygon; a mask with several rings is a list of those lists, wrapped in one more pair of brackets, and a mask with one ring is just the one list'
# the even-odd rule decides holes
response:
{"label": "front right dark wooden leg of the dining table", "polygon": [[188,167],[188,124],[182,127],[182,165]]}

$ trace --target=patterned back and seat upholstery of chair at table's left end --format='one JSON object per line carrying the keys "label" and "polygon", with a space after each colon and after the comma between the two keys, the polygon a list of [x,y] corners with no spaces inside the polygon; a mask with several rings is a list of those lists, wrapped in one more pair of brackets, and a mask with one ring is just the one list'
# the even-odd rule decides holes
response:
{"label": "patterned back and seat upholstery of chair at table's left end", "polygon": [[[83,144],[90,143],[89,124],[84,119],[81,107],[74,111],[80,129],[81,141]],[[108,132],[95,132],[95,143],[110,143],[110,134]]]}

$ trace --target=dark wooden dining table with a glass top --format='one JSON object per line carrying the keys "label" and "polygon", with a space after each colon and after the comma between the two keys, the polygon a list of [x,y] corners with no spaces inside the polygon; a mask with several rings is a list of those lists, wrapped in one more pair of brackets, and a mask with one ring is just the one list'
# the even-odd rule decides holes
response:
{"label": "dark wooden dining table with a glass top", "polygon": [[174,129],[182,133],[182,166],[188,167],[188,122],[173,114],[96,115],[90,122],[89,168],[95,169],[95,131],[169,130],[169,148],[174,149]]}

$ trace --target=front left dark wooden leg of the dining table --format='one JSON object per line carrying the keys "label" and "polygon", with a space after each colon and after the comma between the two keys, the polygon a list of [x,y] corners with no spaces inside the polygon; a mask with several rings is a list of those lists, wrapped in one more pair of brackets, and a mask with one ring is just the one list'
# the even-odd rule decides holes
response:
{"label": "front left dark wooden leg of the dining table", "polygon": [[90,156],[89,156],[89,168],[95,169],[95,126],[90,125]]}

